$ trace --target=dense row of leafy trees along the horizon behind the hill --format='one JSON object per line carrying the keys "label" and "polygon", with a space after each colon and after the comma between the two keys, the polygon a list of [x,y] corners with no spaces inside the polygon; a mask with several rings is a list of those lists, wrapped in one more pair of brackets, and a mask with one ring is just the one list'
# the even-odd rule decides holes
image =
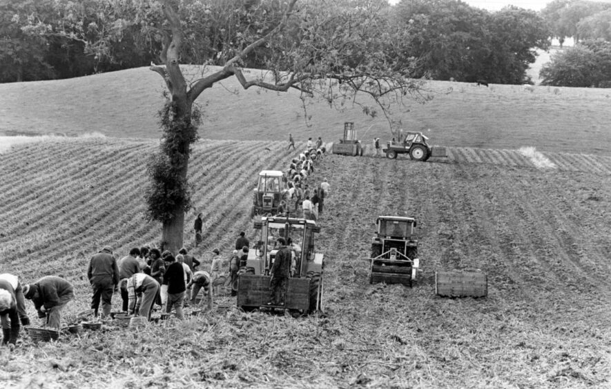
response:
{"label": "dense row of leafy trees along the horizon behind the hill", "polygon": [[[316,0],[310,0],[312,2]],[[322,1],[321,1],[322,2]],[[541,77],[553,86],[603,86],[611,80],[611,3],[554,0],[541,12],[509,6],[497,12],[456,0],[341,0],[340,6],[379,3],[387,23],[371,34],[401,40],[398,63],[410,77],[489,83],[530,83],[526,70],[550,37],[580,41],[552,57]],[[184,64],[223,66],[280,17],[280,0],[177,0],[186,36]],[[0,0],[0,82],[66,79],[147,66],[159,61],[164,40],[161,4],[140,0]],[[336,39],[331,29],[329,36]],[[317,31],[320,33],[320,30]],[[349,31],[345,32],[349,34]],[[287,47],[307,34],[287,30]],[[597,40],[594,40],[597,39]],[[261,46],[245,68],[278,56]],[[407,66],[406,66],[407,68]]]}

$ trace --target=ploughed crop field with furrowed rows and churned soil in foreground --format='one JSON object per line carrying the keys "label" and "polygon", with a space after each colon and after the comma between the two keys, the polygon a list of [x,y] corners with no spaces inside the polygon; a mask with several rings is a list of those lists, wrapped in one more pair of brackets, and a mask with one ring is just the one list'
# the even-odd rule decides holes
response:
{"label": "ploughed crop field with furrowed rows and churned soil in foreground", "polygon": [[[191,163],[204,244],[229,255],[259,170],[284,168],[284,142],[204,141]],[[158,239],[144,219],[152,141],[31,144],[0,154],[0,272],[62,274],[68,308],[88,308],[88,258]],[[266,150],[269,148],[269,150]],[[240,152],[236,152],[240,150]],[[427,163],[329,155],[315,181],[324,306],[293,319],[233,308],[146,330],[108,327],[3,352],[0,380],[22,387],[605,388],[611,385],[611,171],[607,157],[452,148]],[[606,158],[606,159],[605,159]],[[423,277],[370,285],[378,215],[418,221]],[[481,270],[483,299],[434,294],[437,270]],[[115,303],[120,298],[115,295]],[[231,303],[226,299],[227,303]],[[31,304],[28,306],[33,316]]]}

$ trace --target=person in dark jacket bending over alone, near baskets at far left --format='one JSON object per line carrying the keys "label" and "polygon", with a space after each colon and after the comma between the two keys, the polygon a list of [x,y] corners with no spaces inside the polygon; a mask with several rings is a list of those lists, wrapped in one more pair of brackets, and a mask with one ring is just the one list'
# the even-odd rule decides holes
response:
{"label": "person in dark jacket bending over alone, near baskets at far left", "polygon": [[75,292],[65,279],[56,276],[42,277],[35,283],[23,286],[23,296],[32,300],[38,317],[45,319],[45,325],[59,330],[61,310],[68,301],[74,299]]}

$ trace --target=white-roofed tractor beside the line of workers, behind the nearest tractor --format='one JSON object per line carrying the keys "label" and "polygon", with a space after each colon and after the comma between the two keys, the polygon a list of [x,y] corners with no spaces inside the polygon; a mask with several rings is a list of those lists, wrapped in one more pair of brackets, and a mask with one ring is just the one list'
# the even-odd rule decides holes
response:
{"label": "white-roofed tractor beside the line of workers, behind the nearest tractor", "polygon": [[254,189],[251,217],[255,215],[274,215],[278,212],[280,203],[287,194],[287,184],[282,172],[278,170],[262,170],[259,181]]}

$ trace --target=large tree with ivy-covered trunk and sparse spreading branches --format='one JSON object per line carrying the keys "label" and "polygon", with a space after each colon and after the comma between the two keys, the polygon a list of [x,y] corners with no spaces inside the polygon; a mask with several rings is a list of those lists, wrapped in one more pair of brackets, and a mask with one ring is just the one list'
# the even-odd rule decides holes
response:
{"label": "large tree with ivy-covered trunk and sparse spreading branches", "polygon": [[[382,112],[405,97],[426,98],[420,94],[421,83],[409,78],[415,59],[403,62],[391,55],[405,45],[401,38],[406,30],[389,29],[387,2],[375,0],[233,1],[235,8],[229,11],[241,22],[226,28],[240,28],[208,37],[216,43],[202,47],[213,55],[207,60],[221,67],[188,83],[180,66],[182,53],[197,47],[191,38],[201,20],[185,23],[188,17],[182,18],[181,11],[188,6],[195,12],[198,4],[204,8],[197,12],[204,14],[222,8],[218,0],[165,0],[165,20],[154,26],[163,44],[161,63],[152,64],[151,70],[164,79],[169,100],[162,112],[164,136],[151,166],[148,202],[151,215],[163,223],[162,241],[169,250],[182,246],[184,213],[191,205],[186,177],[191,144],[197,139],[195,100],[215,83],[235,77],[244,89],[297,90],[304,100],[319,97],[330,104],[357,101],[364,94]],[[255,54],[269,70],[267,77],[249,79],[243,71],[246,59]],[[375,112],[370,106],[365,110]]]}

